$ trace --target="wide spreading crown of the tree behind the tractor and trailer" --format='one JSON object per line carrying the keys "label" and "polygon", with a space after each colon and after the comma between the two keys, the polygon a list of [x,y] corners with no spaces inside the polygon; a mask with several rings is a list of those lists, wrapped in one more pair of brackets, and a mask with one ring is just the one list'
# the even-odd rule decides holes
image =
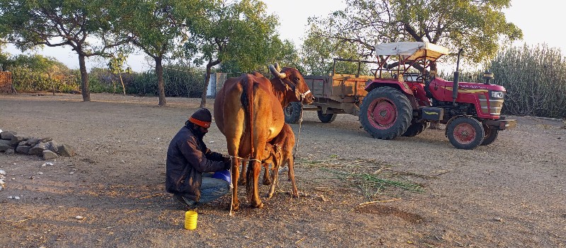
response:
{"label": "wide spreading crown of the tree behind the tractor and trailer", "polygon": [[[505,19],[510,0],[347,0],[347,8],[328,18],[312,18],[314,36],[348,42],[362,57],[374,45],[417,41],[443,45],[478,63],[495,56],[500,38],[513,41],[522,32]],[[434,69],[434,68],[433,68]]]}

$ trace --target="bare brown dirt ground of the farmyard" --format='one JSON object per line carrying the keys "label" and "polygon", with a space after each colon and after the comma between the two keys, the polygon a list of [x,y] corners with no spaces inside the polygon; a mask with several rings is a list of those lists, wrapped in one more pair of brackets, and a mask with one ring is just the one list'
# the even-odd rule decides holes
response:
{"label": "bare brown dirt ground of the farmyard", "polygon": [[[241,211],[229,216],[224,196],[198,208],[198,228],[185,230],[184,209],[164,191],[164,163],[168,142],[200,100],[168,98],[168,107],[156,98],[91,100],[0,95],[0,129],[51,137],[77,153],[45,167],[35,156],[0,153],[8,174],[0,247],[566,247],[560,121],[516,117],[516,129],[501,131],[492,145],[457,150],[443,130],[382,141],[352,115],[323,124],[305,112],[300,133],[291,124],[300,134],[301,198],[291,199],[281,172],[272,199],[260,187],[265,208],[250,208],[239,187]],[[214,124],[204,139],[226,153]],[[320,160],[333,164],[313,163]],[[337,170],[386,170],[423,191],[371,194]]]}

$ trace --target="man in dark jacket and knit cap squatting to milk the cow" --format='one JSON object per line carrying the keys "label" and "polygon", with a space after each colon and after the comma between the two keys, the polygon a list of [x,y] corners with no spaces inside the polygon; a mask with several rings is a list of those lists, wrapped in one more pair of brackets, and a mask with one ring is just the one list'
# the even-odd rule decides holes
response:
{"label": "man in dark jacket and knit cap squatting to milk the cow", "polygon": [[175,134],[167,150],[166,190],[187,208],[214,201],[230,191],[229,182],[207,173],[231,167],[230,158],[212,152],[202,141],[211,122],[209,110],[197,110]]}

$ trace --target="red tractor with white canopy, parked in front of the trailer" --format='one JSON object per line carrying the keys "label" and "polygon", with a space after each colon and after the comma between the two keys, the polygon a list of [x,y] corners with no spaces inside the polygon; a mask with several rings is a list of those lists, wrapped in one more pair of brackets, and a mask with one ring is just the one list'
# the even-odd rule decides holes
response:
{"label": "red tractor with white canopy, parked in front of the trailer", "polygon": [[[446,81],[430,71],[430,65],[446,47],[428,42],[394,42],[376,45],[381,58],[373,80],[366,82],[367,95],[359,119],[374,138],[415,136],[429,122],[446,124],[446,136],[459,149],[489,145],[499,130],[512,129],[516,120],[502,116],[505,88],[490,83]],[[460,52],[458,52],[458,64]],[[387,64],[391,61],[393,63]]]}

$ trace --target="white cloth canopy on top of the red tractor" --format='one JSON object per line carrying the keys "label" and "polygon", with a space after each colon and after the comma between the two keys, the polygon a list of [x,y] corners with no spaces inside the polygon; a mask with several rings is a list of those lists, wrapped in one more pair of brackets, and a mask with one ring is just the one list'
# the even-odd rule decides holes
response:
{"label": "white cloth canopy on top of the red tractor", "polygon": [[405,61],[424,59],[425,55],[427,60],[436,61],[446,54],[449,54],[448,48],[429,42],[393,42],[376,45],[377,56],[398,55]]}

